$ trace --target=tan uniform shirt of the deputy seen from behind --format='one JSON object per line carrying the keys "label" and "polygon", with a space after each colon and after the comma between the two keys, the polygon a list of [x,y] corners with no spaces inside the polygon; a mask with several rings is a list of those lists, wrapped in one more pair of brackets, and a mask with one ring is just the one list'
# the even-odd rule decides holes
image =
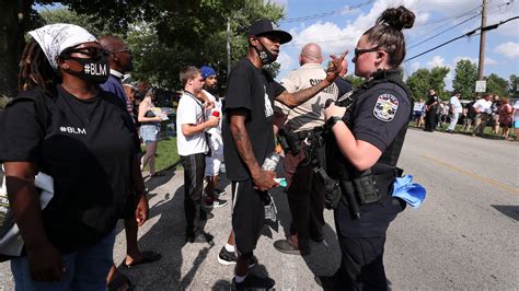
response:
{"label": "tan uniform shirt of the deputy seen from behind", "polygon": [[[307,88],[311,88],[326,78],[326,72],[320,63],[305,63],[299,69],[291,71],[281,80],[281,85],[289,93],[293,93]],[[285,129],[289,131],[303,131],[324,125],[324,104],[328,98],[337,100],[338,88],[335,83],[321,91],[319,94],[305,103],[289,108],[288,106],[275,102],[276,110],[288,115],[285,121]]]}

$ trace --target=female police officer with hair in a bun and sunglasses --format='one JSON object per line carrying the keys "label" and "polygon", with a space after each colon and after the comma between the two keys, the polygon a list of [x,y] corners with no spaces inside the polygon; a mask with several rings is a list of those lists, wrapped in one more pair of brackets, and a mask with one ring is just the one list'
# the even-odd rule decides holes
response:
{"label": "female police officer with hair in a bun and sunglasses", "polygon": [[405,57],[402,30],[414,20],[404,7],[379,16],[353,59],[355,74],[368,81],[347,109],[335,104],[325,109],[326,172],[341,181],[344,198],[335,209],[342,264],[333,277],[321,278],[325,289],[388,289],[382,255],[389,223],[404,208],[391,191],[412,109],[396,69]]}

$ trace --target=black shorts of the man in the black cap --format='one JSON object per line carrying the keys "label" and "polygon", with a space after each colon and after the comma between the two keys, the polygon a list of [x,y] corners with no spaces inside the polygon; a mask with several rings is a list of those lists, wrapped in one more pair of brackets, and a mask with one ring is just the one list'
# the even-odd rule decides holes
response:
{"label": "black shorts of the man in the black cap", "polygon": [[256,248],[265,223],[265,191],[254,189],[251,179],[232,183],[232,231],[238,253],[247,257]]}

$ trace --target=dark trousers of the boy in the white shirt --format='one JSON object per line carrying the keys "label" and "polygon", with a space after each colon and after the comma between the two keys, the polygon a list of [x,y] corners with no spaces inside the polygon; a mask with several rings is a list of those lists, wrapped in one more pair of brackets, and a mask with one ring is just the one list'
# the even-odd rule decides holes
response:
{"label": "dark trousers of the boy in the white shirt", "polygon": [[201,222],[207,219],[201,209],[201,193],[206,159],[203,153],[181,156],[184,167],[184,213],[186,217],[186,236],[195,236],[201,231]]}

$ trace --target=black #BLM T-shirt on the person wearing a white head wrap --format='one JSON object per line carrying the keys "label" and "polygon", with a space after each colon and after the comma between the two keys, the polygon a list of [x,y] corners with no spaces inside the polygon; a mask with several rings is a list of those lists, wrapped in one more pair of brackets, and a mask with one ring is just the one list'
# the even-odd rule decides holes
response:
{"label": "black #BLM T-shirt on the person wearing a white head wrap", "polygon": [[[38,92],[24,95],[37,98]],[[130,194],[137,132],[125,104],[108,92],[83,101],[58,85],[57,97],[47,100],[48,126],[41,124],[36,106],[20,101],[5,109],[0,161],[33,162],[54,177],[55,194],[43,211],[45,230],[60,252],[73,252],[115,228]]]}

